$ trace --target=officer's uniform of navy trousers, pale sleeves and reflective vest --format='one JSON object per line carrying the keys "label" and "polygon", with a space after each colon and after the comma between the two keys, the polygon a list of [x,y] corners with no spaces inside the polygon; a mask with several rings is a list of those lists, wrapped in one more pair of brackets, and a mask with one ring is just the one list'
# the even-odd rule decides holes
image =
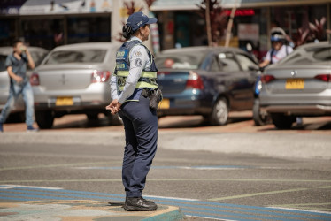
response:
{"label": "officer's uniform of navy trousers, pale sleeves and reflective vest", "polygon": [[[135,48],[137,45],[139,47]],[[141,67],[141,71],[135,72],[133,65],[138,69]],[[142,196],[146,176],[157,150],[157,111],[150,109],[148,93],[143,93],[158,88],[157,71],[150,51],[137,38],[124,42],[118,50],[111,88],[112,99],[122,103],[119,116],[123,120],[126,135],[122,179],[127,197]],[[127,79],[135,74],[138,80],[135,88],[131,88],[134,92],[127,93],[132,87],[127,84]]]}

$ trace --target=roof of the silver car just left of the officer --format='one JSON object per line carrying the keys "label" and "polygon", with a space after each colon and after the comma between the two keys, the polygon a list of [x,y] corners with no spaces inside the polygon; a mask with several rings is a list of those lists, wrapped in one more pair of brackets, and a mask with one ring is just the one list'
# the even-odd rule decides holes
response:
{"label": "roof of the silver car just left of the officer", "polygon": [[120,42],[87,42],[87,43],[74,43],[74,44],[67,44],[58,46],[53,51],[56,50],[77,50],[79,49],[100,49],[104,50],[112,49],[113,47],[120,46]]}

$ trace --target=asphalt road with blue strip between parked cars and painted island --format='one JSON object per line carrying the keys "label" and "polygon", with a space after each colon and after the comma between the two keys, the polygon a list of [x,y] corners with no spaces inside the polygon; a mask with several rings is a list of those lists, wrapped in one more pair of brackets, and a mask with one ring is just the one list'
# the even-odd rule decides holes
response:
{"label": "asphalt road with blue strip between parked cars and painted island", "polygon": [[[40,133],[5,125],[0,201],[123,201],[122,126],[84,116],[58,120]],[[193,220],[331,220],[329,125],[330,118],[304,118],[304,126],[278,131],[252,126],[247,116],[227,126],[161,118],[144,194]]]}

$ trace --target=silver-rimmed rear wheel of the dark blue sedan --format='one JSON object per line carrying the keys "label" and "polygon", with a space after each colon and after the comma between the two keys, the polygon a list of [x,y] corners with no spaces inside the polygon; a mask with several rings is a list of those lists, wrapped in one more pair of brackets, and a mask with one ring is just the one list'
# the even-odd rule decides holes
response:
{"label": "silver-rimmed rear wheel of the dark blue sedan", "polygon": [[210,118],[210,122],[212,125],[222,126],[227,124],[227,118],[227,101],[224,98],[220,98],[212,108],[212,116]]}

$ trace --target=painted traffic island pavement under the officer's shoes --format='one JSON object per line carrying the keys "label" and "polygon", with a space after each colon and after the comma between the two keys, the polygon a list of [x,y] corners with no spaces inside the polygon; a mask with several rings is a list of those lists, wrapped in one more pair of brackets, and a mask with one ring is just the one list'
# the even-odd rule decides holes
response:
{"label": "painted traffic island pavement under the officer's shoes", "polygon": [[47,221],[157,221],[181,220],[185,216],[179,208],[158,205],[155,211],[126,211],[120,203],[98,201],[29,201],[0,202],[0,220]]}

